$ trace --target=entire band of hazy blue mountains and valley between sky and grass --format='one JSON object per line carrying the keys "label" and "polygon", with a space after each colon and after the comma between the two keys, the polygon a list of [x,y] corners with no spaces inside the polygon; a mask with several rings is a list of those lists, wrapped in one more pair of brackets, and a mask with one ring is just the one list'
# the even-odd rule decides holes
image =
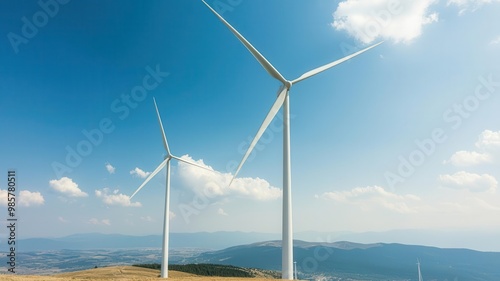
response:
{"label": "entire band of hazy blue mountains and valley between sky and grass", "polygon": [[[276,236],[243,232],[172,233],[171,262],[279,271],[281,241]],[[328,238],[324,239],[326,242],[294,241],[294,260],[300,279],[418,280],[419,259],[424,280],[500,280],[500,252],[401,243],[330,242],[331,236],[323,237]],[[37,268],[26,268],[31,272],[71,271],[94,264],[154,263],[159,261],[160,247],[160,235],[91,233],[18,240],[19,258],[30,261],[24,266],[38,264]]]}

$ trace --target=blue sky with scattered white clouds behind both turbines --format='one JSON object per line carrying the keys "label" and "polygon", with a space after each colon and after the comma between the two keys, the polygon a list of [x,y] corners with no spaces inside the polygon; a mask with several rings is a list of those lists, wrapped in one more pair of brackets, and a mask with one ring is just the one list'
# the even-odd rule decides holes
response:
{"label": "blue sky with scattered white clouds behind both turbines", "polygon": [[[291,90],[296,232],[500,227],[499,1],[208,3],[290,80],[385,40]],[[172,152],[218,171],[173,162],[171,230],[281,231],[281,113],[227,187],[280,84],[201,1],[0,14],[20,236],[161,233],[164,174],[128,197],[163,160],[153,97]]]}

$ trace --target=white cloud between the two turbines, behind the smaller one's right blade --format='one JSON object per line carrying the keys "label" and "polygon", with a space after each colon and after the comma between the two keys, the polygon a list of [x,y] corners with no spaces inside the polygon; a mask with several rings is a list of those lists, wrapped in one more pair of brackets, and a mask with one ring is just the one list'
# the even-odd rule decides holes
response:
{"label": "white cloud between the two turbines, behind the smaller one's right blade", "polygon": [[[188,155],[181,158],[212,170],[210,166],[203,163],[203,160],[194,161]],[[262,201],[281,197],[281,190],[271,186],[264,179],[236,178],[229,186],[232,174],[210,172],[183,162],[179,162],[179,176],[188,188],[204,197],[238,196]]]}

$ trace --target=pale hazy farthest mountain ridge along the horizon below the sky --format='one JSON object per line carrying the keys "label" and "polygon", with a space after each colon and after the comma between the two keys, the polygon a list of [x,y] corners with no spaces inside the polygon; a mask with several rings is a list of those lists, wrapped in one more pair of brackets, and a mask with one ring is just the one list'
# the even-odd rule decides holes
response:
{"label": "pale hazy farthest mountain ridge along the horizon below the sky", "polygon": [[[304,241],[353,241],[359,243],[399,243],[441,248],[468,248],[500,252],[500,231],[459,230],[392,230],[385,232],[297,232],[295,239]],[[453,239],[450,239],[453,237]],[[20,237],[22,238],[22,237]],[[200,248],[220,250],[259,241],[281,239],[278,233],[219,231],[170,233],[170,248]],[[20,239],[19,251],[93,250],[123,248],[160,248],[161,235],[133,236],[122,234],[84,233],[59,238]],[[6,251],[1,243],[0,251]]]}

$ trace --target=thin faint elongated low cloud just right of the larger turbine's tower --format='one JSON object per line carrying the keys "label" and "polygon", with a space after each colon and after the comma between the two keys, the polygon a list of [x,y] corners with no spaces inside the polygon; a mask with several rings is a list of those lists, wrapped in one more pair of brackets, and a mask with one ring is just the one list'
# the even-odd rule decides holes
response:
{"label": "thin faint elongated low cloud just right of the larger turbine's tower", "polygon": [[325,192],[321,197],[337,202],[362,205],[367,208],[381,206],[398,213],[415,212],[415,209],[410,205],[420,201],[420,198],[416,195],[398,195],[388,192],[380,186],[356,187],[349,191]]}

